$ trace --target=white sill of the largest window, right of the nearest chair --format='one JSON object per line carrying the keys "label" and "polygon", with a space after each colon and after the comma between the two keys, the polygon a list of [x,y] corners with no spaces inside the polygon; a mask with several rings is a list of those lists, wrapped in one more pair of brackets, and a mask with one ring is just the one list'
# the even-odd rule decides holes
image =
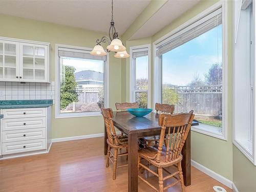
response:
{"label": "white sill of the largest window, right of the nearest chair", "polygon": [[195,132],[198,132],[198,133],[201,133],[204,135],[216,137],[218,139],[227,141],[227,139],[224,137],[223,133],[216,126],[199,123],[199,125],[197,125],[197,126],[191,126],[191,131],[195,131]]}

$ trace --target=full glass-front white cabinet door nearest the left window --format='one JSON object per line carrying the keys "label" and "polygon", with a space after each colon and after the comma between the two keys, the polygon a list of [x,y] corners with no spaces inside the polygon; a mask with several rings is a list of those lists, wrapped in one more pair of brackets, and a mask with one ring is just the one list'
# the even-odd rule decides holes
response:
{"label": "full glass-front white cabinet door nearest the left window", "polygon": [[47,81],[47,46],[20,44],[20,76],[19,81]]}

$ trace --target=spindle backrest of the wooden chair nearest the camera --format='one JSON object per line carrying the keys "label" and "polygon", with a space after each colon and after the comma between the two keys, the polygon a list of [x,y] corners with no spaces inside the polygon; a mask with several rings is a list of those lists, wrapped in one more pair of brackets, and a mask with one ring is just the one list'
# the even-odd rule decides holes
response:
{"label": "spindle backrest of the wooden chair nearest the camera", "polygon": [[165,161],[173,161],[179,157],[195,116],[193,112],[194,111],[191,110],[189,113],[179,113],[175,115],[160,114],[158,123],[162,129],[159,138],[158,152],[154,157],[157,162],[160,162],[166,128],[168,129],[168,134],[166,138]]}

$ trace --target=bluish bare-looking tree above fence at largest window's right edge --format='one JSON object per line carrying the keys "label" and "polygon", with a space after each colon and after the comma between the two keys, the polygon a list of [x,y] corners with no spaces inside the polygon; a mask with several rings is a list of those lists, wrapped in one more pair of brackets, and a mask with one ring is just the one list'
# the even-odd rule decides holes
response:
{"label": "bluish bare-looking tree above fence at largest window's right edge", "polygon": [[205,75],[207,84],[220,84],[222,83],[222,63],[214,63]]}

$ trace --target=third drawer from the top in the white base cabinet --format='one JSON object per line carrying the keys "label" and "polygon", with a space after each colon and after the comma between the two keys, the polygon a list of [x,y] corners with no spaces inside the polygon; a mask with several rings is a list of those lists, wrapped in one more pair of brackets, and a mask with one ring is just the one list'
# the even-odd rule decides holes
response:
{"label": "third drawer from the top in the white base cabinet", "polygon": [[3,143],[44,138],[46,138],[46,128],[5,131],[2,133]]}

